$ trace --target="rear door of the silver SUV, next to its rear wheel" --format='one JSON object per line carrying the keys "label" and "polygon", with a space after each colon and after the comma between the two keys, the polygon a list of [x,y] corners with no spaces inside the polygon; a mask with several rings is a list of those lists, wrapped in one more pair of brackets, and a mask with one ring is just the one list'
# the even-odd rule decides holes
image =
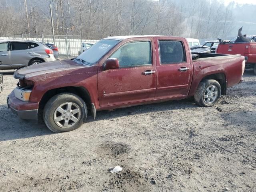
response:
{"label": "rear door of the silver SUV, next to its rear wheel", "polygon": [[11,42],[10,53],[13,69],[28,65],[30,59],[34,57],[33,50],[27,42]]}

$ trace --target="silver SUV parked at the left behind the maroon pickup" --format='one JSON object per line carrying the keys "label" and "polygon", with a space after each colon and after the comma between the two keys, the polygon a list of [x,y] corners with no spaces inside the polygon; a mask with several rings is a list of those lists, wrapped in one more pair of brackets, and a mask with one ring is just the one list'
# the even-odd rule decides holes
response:
{"label": "silver SUV parked at the left behind the maroon pickup", "polygon": [[55,61],[53,52],[42,43],[32,40],[0,40],[0,69]]}

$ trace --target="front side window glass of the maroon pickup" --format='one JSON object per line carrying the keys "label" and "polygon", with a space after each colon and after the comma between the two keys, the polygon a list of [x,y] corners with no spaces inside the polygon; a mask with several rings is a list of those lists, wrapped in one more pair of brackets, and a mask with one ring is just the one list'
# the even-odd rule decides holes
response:
{"label": "front side window glass of the maroon pickup", "polygon": [[110,58],[117,58],[120,68],[151,65],[151,43],[140,41],[124,44]]}

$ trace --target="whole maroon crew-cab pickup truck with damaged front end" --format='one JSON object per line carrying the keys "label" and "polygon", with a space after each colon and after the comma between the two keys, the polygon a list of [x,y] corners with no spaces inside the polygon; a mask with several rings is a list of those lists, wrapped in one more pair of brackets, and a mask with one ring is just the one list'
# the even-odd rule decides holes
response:
{"label": "whole maroon crew-cab pickup truck with damaged front end", "polygon": [[194,96],[214,106],[242,82],[244,56],[191,54],[185,38],[116,36],[100,40],[72,60],[35,64],[14,73],[7,98],[23,119],[42,116],[53,132],[79,128],[87,110],[110,110]]}

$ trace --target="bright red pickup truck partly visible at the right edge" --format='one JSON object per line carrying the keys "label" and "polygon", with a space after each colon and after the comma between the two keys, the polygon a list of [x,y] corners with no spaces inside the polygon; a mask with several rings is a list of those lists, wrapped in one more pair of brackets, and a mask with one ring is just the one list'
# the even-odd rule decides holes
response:
{"label": "bright red pickup truck partly visible at the right edge", "polygon": [[220,40],[217,49],[219,54],[240,54],[245,57],[245,69],[253,70],[256,75],[256,36],[247,36],[250,41],[241,42],[237,40],[239,37],[230,41]]}

